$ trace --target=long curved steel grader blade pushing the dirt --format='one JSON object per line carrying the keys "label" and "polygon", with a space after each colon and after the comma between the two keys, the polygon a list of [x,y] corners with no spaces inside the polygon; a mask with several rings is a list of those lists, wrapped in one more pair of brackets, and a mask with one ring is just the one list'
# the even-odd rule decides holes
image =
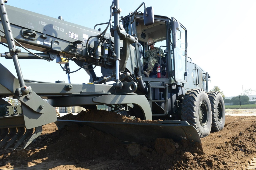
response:
{"label": "long curved steel grader blade pushing the dirt", "polygon": [[[187,121],[159,121],[159,124],[150,124],[57,120],[54,123],[58,129],[71,124],[87,125],[126,142],[144,143],[154,142],[157,138],[171,138],[174,141],[186,139],[190,143],[198,143],[198,147],[202,144],[197,130]],[[198,149],[202,150],[202,148]]]}

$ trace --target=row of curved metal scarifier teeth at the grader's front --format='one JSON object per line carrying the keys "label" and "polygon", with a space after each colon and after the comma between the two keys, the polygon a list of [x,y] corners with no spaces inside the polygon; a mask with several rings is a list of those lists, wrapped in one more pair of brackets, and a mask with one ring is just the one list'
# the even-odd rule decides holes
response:
{"label": "row of curved metal scarifier teeth at the grader's front", "polygon": [[[8,149],[15,141],[17,143],[15,144],[13,150],[17,149],[22,143],[25,143],[23,146],[23,149],[25,149],[35,138],[40,136],[42,133],[42,126],[38,126],[31,129],[26,129],[25,127],[13,127],[13,128],[3,128],[0,129],[0,148],[2,148],[6,143],[4,150]],[[33,133],[34,132],[34,133]],[[25,134],[24,134],[25,133]]]}

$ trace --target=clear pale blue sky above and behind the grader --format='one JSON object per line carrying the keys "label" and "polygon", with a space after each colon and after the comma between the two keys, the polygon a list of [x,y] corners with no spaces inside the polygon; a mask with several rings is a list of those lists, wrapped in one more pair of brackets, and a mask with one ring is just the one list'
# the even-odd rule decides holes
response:
{"label": "clear pale blue sky above and behind the grader", "polygon": [[[134,11],[143,1],[120,0],[120,16]],[[256,16],[256,1],[223,0],[165,0],[144,1],[153,6],[156,15],[174,17],[187,29],[188,57],[208,72],[211,82],[209,89],[218,86],[225,96],[237,96],[243,90],[255,87],[255,40],[253,29]],[[37,12],[39,14],[94,28],[95,24],[109,21],[112,1],[38,1],[8,0],[7,5]],[[143,11],[141,7],[138,11]],[[11,22],[11,20],[10,20]],[[105,29],[101,26],[101,29]],[[98,29],[100,27],[97,27]],[[0,52],[7,51],[0,45]],[[23,52],[25,52],[23,50]],[[0,62],[16,76],[13,61],[0,57]],[[55,82],[68,82],[67,75],[55,61],[20,60],[24,79]],[[71,71],[78,67],[70,63]],[[1,73],[2,74],[2,73]],[[97,76],[101,76],[99,69]],[[71,83],[89,83],[84,70],[71,73]],[[253,93],[255,95],[256,93]]]}

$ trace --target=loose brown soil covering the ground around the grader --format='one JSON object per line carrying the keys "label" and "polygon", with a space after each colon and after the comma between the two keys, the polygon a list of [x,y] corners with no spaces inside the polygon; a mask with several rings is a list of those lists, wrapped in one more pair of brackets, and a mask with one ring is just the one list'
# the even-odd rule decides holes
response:
{"label": "loose brown soil covering the ground around the grader", "polygon": [[[255,116],[256,109],[226,110],[224,129],[202,138],[203,149],[184,139],[123,143],[88,126],[73,124],[58,130],[50,123],[24,150],[3,150],[6,145],[0,148],[0,169],[255,169],[249,164],[256,160]],[[145,122],[95,110],[67,114],[60,119]]]}

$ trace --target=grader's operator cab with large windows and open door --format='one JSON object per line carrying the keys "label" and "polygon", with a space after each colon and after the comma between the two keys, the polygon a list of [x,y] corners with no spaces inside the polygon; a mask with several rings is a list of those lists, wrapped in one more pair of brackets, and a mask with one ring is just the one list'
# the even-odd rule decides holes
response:
{"label": "grader's operator cab with large windows and open door", "polygon": [[[157,78],[157,66],[161,65],[161,81],[182,82],[187,81],[187,36],[186,28],[174,18],[154,15],[154,23],[144,25],[143,13],[138,12],[134,22],[131,23],[129,16],[123,20],[123,25],[128,34],[138,38],[138,54],[140,62],[138,67],[140,75],[146,79]],[[147,68],[143,66],[143,59],[150,50],[147,44],[148,38],[153,38],[155,47],[158,47],[165,54],[162,60],[155,64],[153,72],[146,78],[143,71]],[[160,59],[160,58],[159,58]],[[159,79],[159,78],[157,78]]]}

